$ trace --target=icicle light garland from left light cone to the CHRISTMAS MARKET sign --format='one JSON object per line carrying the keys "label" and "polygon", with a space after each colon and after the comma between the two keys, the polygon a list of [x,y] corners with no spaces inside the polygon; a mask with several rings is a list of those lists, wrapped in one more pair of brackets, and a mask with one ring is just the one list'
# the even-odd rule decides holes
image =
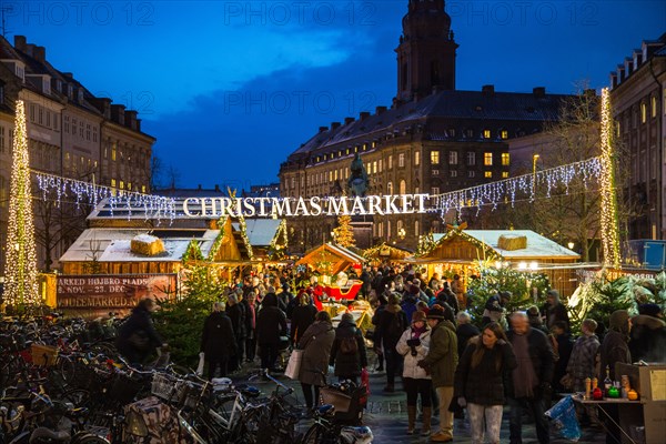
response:
{"label": "icicle light garland from left light cone to the CHRISTMAS MARKET sign", "polygon": [[159,225],[162,219],[168,219],[171,224],[175,218],[175,199],[173,198],[117,190],[34,170],[32,172],[37,179],[37,186],[42,192],[42,199],[47,201],[49,193],[54,192],[58,206],[65,198],[73,199],[77,209],[88,204],[95,208],[100,202],[107,200],[111,215],[117,210],[124,210],[128,220],[132,218],[133,213],[142,213],[145,220],[152,219]]}

